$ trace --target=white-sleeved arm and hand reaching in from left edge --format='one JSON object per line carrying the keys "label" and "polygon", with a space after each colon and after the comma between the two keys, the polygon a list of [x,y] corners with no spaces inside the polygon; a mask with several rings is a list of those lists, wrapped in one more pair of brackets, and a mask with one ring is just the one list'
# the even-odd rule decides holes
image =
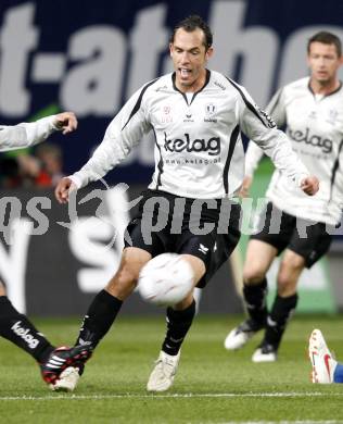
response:
{"label": "white-sleeved arm and hand reaching in from left edge", "polygon": [[67,134],[76,127],[77,120],[73,112],[62,112],[31,123],[0,126],[0,151],[35,146],[46,140],[55,130]]}

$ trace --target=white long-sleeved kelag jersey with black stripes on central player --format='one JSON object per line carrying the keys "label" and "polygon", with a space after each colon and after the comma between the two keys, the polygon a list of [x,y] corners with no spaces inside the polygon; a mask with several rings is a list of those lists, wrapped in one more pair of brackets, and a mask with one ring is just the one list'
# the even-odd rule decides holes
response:
{"label": "white long-sleeved kelag jersey with black stripes on central player", "polygon": [[155,134],[151,189],[200,199],[233,196],[244,175],[241,130],[296,184],[308,175],[287,136],[245,89],[207,71],[204,87],[194,93],[179,91],[174,73],[140,88],[111,122],[92,158],[71,178],[78,187],[101,178],[150,129]]}

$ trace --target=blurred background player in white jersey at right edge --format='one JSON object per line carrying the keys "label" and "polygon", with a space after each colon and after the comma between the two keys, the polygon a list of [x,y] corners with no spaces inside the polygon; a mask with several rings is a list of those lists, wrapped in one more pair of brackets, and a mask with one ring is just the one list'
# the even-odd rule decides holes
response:
{"label": "blurred background player in white jersey at right edge", "polygon": [[[251,237],[243,269],[243,295],[249,319],[232,329],[227,349],[241,348],[258,331],[262,344],[254,362],[274,362],[289,317],[297,302],[296,286],[305,267],[310,267],[329,249],[332,226],[341,220],[343,200],[343,88],[338,78],[341,41],[330,33],[314,35],[307,45],[310,76],[281,88],[267,112],[278,126],[287,127],[293,150],[320,179],[315,197],[304,196],[276,170],[267,189],[268,203],[262,213],[261,233]],[[263,151],[250,144],[246,152],[246,195]],[[269,225],[279,223],[279,228]],[[270,311],[266,307],[266,273],[284,250],[277,276],[277,296]]]}

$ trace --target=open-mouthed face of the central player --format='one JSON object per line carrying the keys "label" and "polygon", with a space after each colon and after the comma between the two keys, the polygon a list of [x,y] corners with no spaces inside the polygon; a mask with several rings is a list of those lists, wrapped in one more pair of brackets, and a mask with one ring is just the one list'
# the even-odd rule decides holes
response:
{"label": "open-mouthed face of the central player", "polygon": [[202,29],[188,33],[179,28],[169,45],[170,57],[176,72],[176,85],[181,91],[195,91],[205,82],[205,66],[212,55],[212,47],[204,46],[204,33]]}

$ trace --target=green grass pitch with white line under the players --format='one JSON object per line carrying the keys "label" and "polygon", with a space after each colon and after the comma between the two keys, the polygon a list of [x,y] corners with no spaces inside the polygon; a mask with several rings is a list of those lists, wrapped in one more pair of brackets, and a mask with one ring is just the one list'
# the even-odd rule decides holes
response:
{"label": "green grass pitch with white line under the players", "polygon": [[[173,389],[145,384],[164,337],[164,317],[119,316],[88,362],[74,394],[55,394],[34,361],[0,340],[0,423],[343,423],[343,385],[309,383],[307,339],[319,327],[343,360],[340,316],[295,316],[279,361],[253,364],[256,336],[227,352],[227,332],[242,316],[196,316]],[[73,344],[78,319],[34,320],[56,345]]]}

